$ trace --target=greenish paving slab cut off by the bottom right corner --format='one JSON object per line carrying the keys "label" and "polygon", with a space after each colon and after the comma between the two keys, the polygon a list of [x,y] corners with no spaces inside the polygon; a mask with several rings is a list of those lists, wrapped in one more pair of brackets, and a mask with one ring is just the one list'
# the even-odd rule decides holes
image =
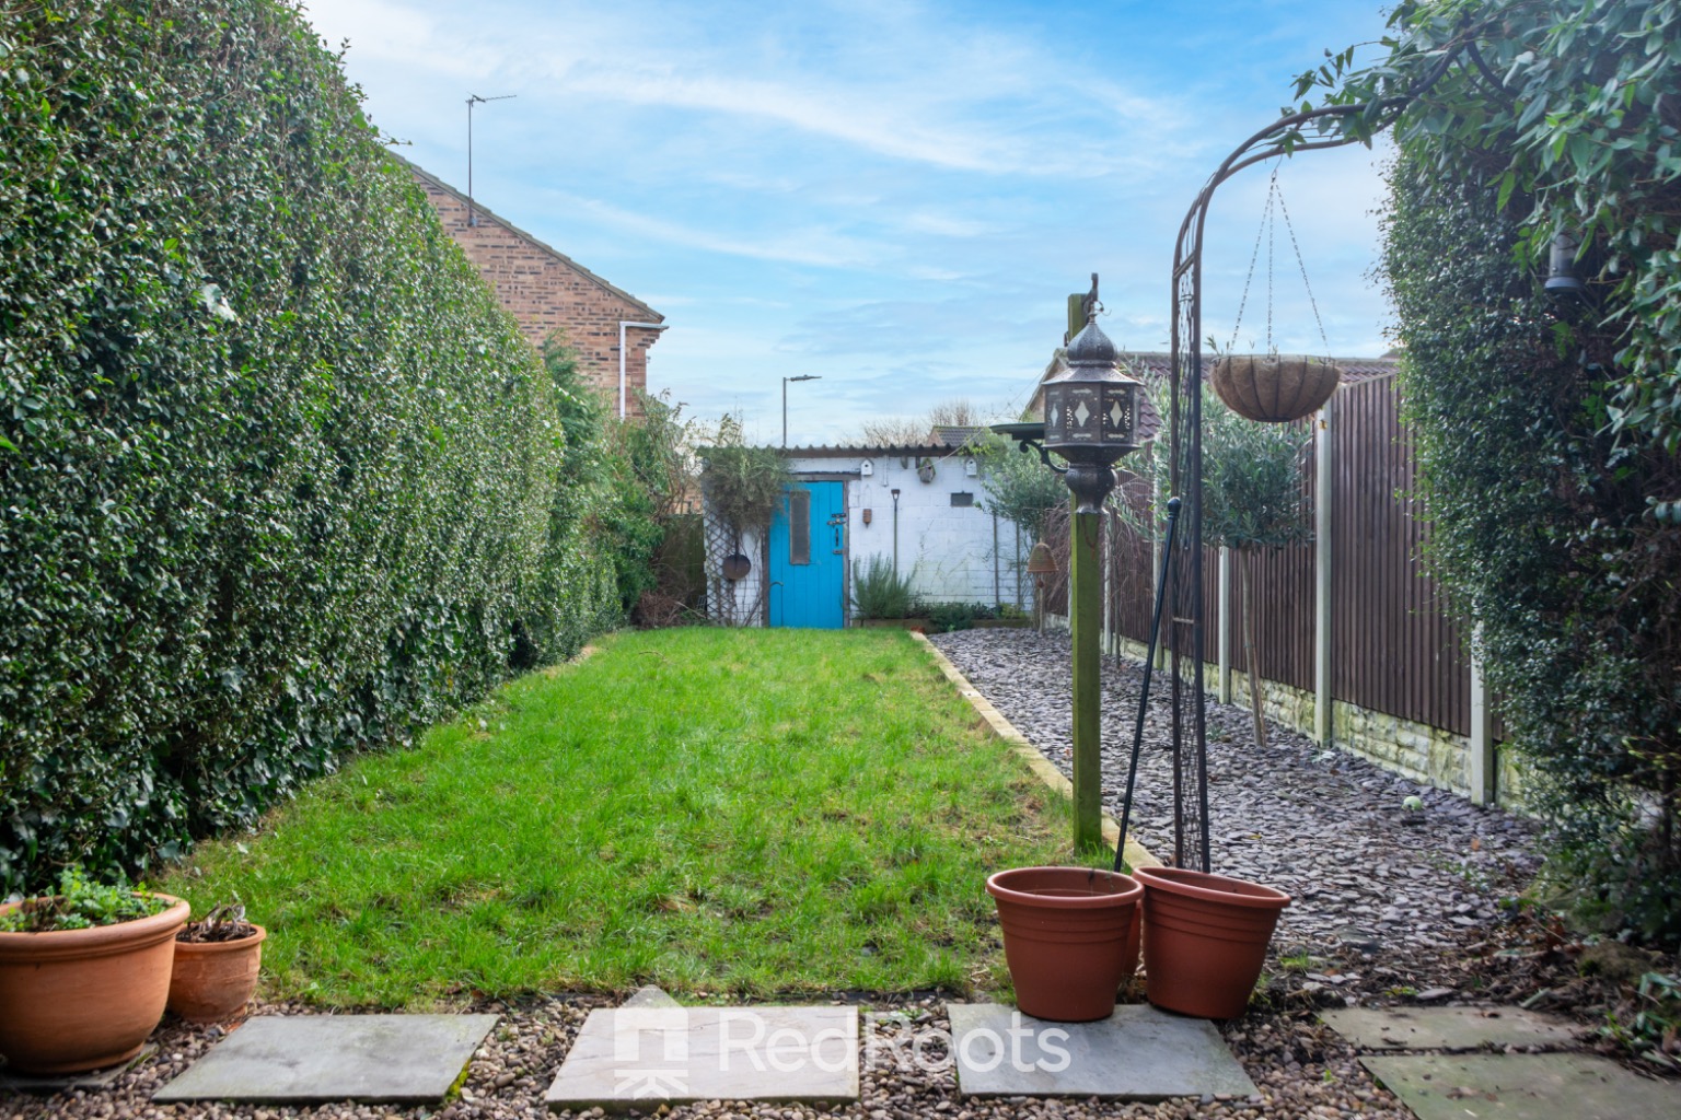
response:
{"label": "greenish paving slab cut off by the bottom right corner", "polygon": [[1674,1120],[1681,1083],[1597,1055],[1367,1055],[1419,1120]]}

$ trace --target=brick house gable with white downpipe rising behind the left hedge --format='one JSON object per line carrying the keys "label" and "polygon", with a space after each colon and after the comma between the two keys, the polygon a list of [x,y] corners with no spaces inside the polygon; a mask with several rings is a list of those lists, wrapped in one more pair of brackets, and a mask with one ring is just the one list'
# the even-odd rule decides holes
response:
{"label": "brick house gable with white downpipe rising behind the left hedge", "polygon": [[[405,161],[407,163],[407,161]],[[637,411],[647,391],[647,351],[666,316],[614,287],[566,254],[486,210],[430,171],[408,163],[439,220],[533,346],[565,331],[578,351],[578,371],[612,401],[619,415]]]}

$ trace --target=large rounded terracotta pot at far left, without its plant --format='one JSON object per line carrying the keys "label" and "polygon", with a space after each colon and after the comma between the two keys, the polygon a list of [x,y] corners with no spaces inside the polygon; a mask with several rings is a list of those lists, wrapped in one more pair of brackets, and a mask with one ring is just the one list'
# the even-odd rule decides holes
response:
{"label": "large rounded terracotta pot at far left, without its plant", "polygon": [[15,1071],[99,1070],[140,1053],[163,1018],[188,913],[158,897],[170,908],[133,922],[0,934],[0,1055]]}

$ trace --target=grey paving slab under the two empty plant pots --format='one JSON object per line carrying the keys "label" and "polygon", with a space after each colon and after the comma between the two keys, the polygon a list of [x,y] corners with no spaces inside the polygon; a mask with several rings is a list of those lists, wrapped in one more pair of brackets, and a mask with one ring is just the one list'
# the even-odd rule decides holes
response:
{"label": "grey paving slab under the two empty plant pots", "polygon": [[1002,1004],[946,1004],[967,1096],[1249,1096],[1254,1081],[1207,1019],[1128,1004],[1096,1023],[1051,1023]]}

